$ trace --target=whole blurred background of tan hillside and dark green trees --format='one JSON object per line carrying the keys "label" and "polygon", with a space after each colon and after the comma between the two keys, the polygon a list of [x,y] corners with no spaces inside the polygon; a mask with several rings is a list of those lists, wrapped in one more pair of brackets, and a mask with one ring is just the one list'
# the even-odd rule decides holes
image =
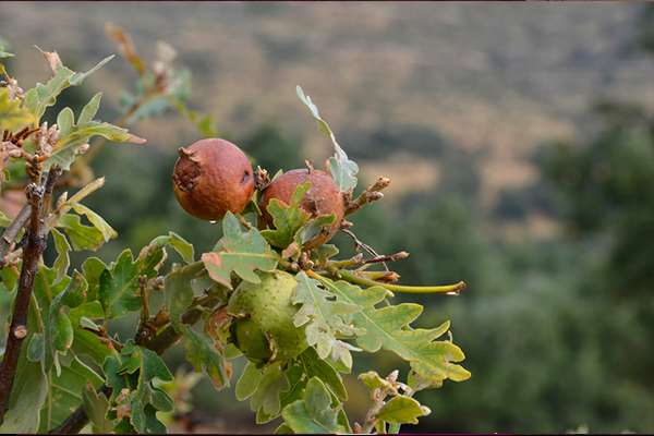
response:
{"label": "whole blurred background of tan hillside and dark green trees", "polygon": [[[90,68],[117,52],[107,22],[146,60],[159,40],[174,47],[189,106],[270,173],[331,154],[302,85],[359,161],[360,185],[392,180],[352,217],[360,239],[411,252],[395,265],[403,282],[469,283],[460,296],[404,298],[426,306],[421,326],[452,320],[473,374],[419,393],[433,413],[405,431],[654,432],[652,7],[2,2],[10,71],[24,87],[48,77],[34,45]],[[135,81],[116,59],[59,106],[104,90],[100,118],[116,120]],[[168,230],[209,250],[219,227],[186,216],[170,182],[177,148],[202,134],[174,111],[130,129],[147,146],[108,146],[93,164],[107,183],[87,203],[120,233],[98,255]],[[354,373],[398,365],[362,356]],[[361,419],[364,387],[347,385]],[[275,427],[204,379],[193,405],[197,432]]]}

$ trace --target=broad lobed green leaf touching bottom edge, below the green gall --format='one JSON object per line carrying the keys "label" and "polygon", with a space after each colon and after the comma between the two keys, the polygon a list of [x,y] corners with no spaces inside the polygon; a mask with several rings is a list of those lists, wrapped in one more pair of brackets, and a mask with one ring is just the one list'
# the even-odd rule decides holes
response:
{"label": "broad lobed green leaf touching bottom edge, below the green gall", "polygon": [[323,382],[312,377],[306,384],[304,396],[283,408],[281,415],[294,433],[344,433],[338,422],[338,409],[331,407],[329,391]]}

